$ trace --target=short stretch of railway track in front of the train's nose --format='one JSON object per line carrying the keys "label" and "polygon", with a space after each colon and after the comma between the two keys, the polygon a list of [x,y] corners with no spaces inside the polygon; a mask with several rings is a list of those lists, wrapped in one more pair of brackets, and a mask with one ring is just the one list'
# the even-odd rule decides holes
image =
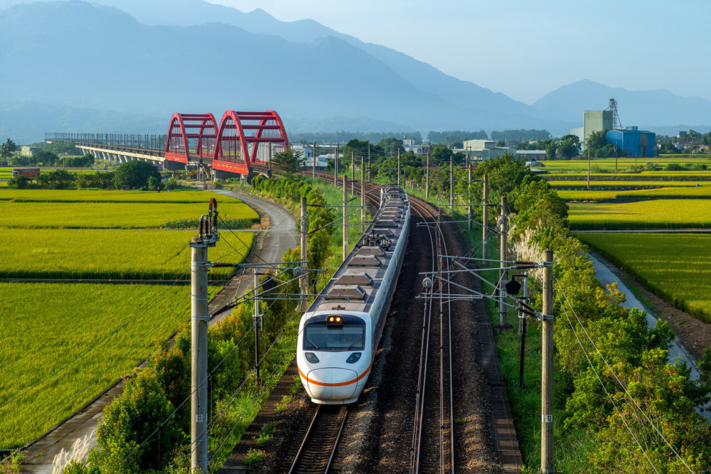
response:
{"label": "short stretch of railway track in front of the train's nose", "polygon": [[319,405],[289,474],[328,473],[347,418],[348,405]]}

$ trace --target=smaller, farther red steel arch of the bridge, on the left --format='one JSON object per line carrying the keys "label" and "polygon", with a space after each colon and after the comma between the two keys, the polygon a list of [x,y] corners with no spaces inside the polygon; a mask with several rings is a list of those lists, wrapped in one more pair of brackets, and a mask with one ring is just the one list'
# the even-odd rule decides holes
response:
{"label": "smaller, farther red steel arch of the bridge, on the left", "polygon": [[213,114],[173,114],[166,139],[166,160],[212,161],[218,126]]}

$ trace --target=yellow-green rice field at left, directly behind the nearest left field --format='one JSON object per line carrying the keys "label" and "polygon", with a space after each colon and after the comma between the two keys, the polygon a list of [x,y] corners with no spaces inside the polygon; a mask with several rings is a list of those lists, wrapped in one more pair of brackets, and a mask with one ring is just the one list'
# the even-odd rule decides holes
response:
{"label": "yellow-green rice field at left, directly behind the nearest left field", "polygon": [[[174,280],[190,269],[194,230],[6,229],[3,279]],[[221,232],[210,258],[241,263],[253,232]],[[210,269],[223,279],[235,269]],[[190,278],[188,272],[186,279]]]}

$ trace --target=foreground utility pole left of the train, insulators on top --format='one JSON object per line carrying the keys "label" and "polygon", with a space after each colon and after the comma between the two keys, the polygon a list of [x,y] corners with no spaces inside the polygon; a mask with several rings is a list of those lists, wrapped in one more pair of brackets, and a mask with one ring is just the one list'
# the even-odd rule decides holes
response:
{"label": "foreground utility pole left of the train, insulators on top", "polygon": [[[210,217],[203,232],[205,220],[200,218],[200,233],[193,237],[191,247],[191,468],[208,472],[208,247],[218,240],[211,225],[217,223],[217,202],[213,219],[213,200],[210,200]],[[210,222],[210,219],[213,219]],[[216,229],[216,226],[215,226]]]}

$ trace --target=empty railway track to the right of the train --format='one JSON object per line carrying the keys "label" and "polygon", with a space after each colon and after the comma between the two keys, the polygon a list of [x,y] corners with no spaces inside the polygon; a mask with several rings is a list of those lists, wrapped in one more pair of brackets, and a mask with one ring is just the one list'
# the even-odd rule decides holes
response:
{"label": "empty railway track to the right of the train", "polygon": [[[410,205],[427,227],[432,256],[447,255],[439,212],[418,198]],[[447,258],[432,258],[430,271],[447,269]],[[449,284],[441,279],[426,289],[418,366],[410,473],[454,473],[454,402],[451,370],[451,311]]]}

